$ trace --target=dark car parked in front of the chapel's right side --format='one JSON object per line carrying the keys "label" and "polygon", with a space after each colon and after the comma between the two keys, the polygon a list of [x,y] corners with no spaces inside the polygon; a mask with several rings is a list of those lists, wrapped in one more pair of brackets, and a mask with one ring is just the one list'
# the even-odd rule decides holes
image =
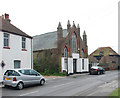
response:
{"label": "dark car parked in front of the chapel's right side", "polygon": [[90,68],[89,72],[90,72],[90,74],[98,74],[98,75],[100,75],[100,74],[104,74],[105,70],[100,66],[92,66]]}

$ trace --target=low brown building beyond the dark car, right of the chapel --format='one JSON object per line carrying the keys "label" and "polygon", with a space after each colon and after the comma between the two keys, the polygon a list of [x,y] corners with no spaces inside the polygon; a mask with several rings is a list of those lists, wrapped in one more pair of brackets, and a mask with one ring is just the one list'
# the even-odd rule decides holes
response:
{"label": "low brown building beyond the dark car, right of the chapel", "polygon": [[94,58],[100,66],[105,69],[117,69],[120,66],[120,55],[111,47],[100,47],[89,55],[89,59]]}

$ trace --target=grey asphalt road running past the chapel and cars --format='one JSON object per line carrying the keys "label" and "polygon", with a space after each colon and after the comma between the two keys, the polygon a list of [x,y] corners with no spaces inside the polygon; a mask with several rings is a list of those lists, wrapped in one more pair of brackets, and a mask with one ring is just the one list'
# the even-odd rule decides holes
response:
{"label": "grey asphalt road running past the chapel and cars", "polygon": [[108,96],[118,88],[118,71],[103,75],[74,75],[46,81],[23,90],[2,88],[2,96]]}

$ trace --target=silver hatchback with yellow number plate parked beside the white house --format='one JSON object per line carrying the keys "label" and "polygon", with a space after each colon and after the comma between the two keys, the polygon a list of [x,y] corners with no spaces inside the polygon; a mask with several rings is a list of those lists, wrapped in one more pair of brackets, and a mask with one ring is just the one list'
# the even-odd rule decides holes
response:
{"label": "silver hatchback with yellow number plate parked beside the white house", "polygon": [[45,78],[32,69],[12,69],[7,70],[3,76],[4,86],[16,87],[19,90],[27,85],[40,84],[44,85]]}

